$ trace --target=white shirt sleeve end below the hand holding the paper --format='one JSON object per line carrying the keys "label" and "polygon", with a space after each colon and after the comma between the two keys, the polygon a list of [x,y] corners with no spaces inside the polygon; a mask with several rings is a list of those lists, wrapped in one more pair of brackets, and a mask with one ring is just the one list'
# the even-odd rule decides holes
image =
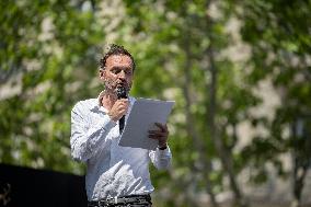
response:
{"label": "white shirt sleeve end below the hand holding the paper", "polygon": [[160,150],[158,148],[157,150],[151,150],[149,152],[149,157],[151,162],[158,170],[166,170],[171,166],[172,152],[169,146],[164,150]]}

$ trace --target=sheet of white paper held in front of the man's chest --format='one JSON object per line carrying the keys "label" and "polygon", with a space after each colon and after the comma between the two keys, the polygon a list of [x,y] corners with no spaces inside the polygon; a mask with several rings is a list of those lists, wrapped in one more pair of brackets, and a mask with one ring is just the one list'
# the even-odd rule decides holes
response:
{"label": "sheet of white paper held in front of the man's chest", "polygon": [[174,101],[137,99],[128,115],[118,145],[154,150],[158,140],[148,137],[148,130],[158,129],[154,123],[165,124]]}

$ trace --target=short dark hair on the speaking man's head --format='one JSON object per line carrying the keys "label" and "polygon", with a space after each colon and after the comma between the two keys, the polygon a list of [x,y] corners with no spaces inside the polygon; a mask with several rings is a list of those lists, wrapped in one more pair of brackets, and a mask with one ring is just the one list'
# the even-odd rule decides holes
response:
{"label": "short dark hair on the speaking man's head", "polygon": [[126,50],[123,46],[116,45],[116,44],[111,44],[108,47],[110,47],[108,51],[106,51],[100,60],[100,69],[103,69],[103,70],[105,69],[106,61],[107,61],[110,56],[125,55],[125,56],[128,56],[131,59],[131,68],[133,68],[133,71],[135,70],[135,68],[136,68],[135,60],[134,60],[134,57],[131,56],[131,54],[128,50]]}

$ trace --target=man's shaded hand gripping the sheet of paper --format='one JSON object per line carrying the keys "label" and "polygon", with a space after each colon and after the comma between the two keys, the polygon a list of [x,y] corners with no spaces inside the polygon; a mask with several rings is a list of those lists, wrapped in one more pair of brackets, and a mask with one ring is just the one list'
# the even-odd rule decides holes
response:
{"label": "man's shaded hand gripping the sheet of paper", "polygon": [[159,148],[168,146],[169,129],[166,124],[154,123],[159,128],[157,130],[149,130],[149,138],[157,139],[159,141]]}

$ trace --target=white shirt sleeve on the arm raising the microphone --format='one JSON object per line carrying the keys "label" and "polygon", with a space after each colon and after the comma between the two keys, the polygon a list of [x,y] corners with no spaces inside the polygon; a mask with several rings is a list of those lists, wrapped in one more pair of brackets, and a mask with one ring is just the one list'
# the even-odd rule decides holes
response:
{"label": "white shirt sleeve on the arm raising the microphone", "polygon": [[107,134],[116,125],[108,115],[103,115],[95,123],[89,123],[90,110],[81,102],[71,111],[71,156],[74,160],[85,162],[107,142]]}

